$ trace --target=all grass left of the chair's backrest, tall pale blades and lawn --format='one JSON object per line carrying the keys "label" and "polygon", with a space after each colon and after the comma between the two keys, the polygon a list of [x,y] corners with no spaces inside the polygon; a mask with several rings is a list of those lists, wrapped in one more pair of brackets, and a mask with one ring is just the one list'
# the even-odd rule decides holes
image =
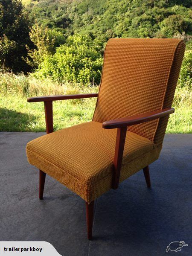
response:
{"label": "all grass left of the chair's backrest, tall pale blades and lawn", "polygon": [[[53,84],[50,80],[0,74],[0,131],[45,131],[43,102],[28,103],[27,96],[97,92],[98,87]],[[92,119],[96,98],[53,102],[54,129]]]}

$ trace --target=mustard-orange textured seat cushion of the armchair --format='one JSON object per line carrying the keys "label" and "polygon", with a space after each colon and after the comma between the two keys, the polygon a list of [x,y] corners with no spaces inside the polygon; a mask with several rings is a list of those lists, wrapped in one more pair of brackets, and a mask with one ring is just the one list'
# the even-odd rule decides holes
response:
{"label": "mustard-orange textured seat cushion of the armchair", "polygon": [[[115,143],[116,129],[86,122],[30,141],[26,153],[29,163],[91,202],[111,189]],[[120,181],[152,163],[159,153],[150,140],[128,131]]]}

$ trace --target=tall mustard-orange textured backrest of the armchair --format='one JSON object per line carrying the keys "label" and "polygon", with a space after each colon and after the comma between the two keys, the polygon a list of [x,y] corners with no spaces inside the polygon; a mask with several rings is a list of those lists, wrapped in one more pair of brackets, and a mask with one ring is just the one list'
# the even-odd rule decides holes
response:
{"label": "tall mustard-orange textured backrest of the armchair", "polygon": [[[185,42],[180,39],[110,39],[93,121],[171,107],[184,50]],[[128,130],[161,145],[167,122],[163,117]]]}

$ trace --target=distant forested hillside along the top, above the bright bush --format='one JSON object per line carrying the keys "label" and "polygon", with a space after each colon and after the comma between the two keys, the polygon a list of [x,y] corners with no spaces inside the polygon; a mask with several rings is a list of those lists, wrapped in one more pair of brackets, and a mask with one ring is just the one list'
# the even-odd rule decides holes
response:
{"label": "distant forested hillside along the top, above the bright bush", "polygon": [[[70,3],[71,2],[71,3]],[[173,37],[192,32],[191,0],[39,0],[30,18],[64,34],[111,37]]]}

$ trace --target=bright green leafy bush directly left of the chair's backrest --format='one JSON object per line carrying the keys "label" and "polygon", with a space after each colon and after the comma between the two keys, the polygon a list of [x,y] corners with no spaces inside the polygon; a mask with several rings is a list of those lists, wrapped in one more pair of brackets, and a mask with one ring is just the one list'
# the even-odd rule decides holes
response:
{"label": "bright green leafy bush directly left of the chair's backrest", "polygon": [[34,75],[53,81],[99,84],[101,70],[102,43],[88,35],[73,35],[54,55],[44,56]]}

